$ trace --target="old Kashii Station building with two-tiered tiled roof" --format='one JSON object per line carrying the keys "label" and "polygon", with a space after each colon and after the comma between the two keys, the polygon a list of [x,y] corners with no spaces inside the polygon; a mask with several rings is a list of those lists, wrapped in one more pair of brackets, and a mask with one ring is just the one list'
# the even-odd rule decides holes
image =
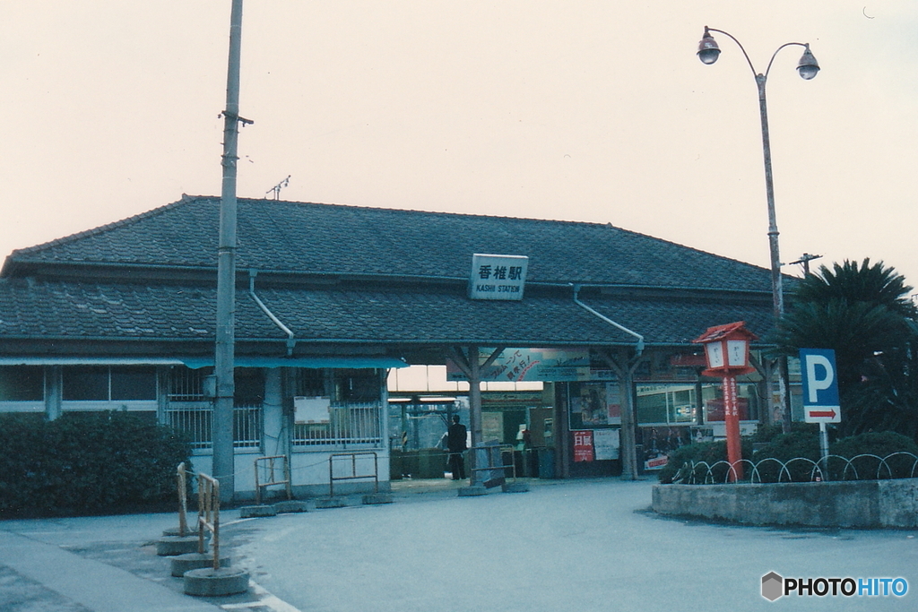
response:
{"label": "old Kashii Station building with two-tiered tiled roof", "polygon": [[[0,411],[139,413],[210,473],[218,215],[218,197],[183,195],[10,254]],[[241,198],[236,252],[241,498],[266,455],[289,459],[299,495],[328,492],[341,452],[375,453],[384,487],[417,475],[404,454],[453,413],[529,451],[527,475],[634,477],[722,436],[691,340],[773,325],[766,269],[606,224]],[[747,431],[774,418],[758,365]]]}

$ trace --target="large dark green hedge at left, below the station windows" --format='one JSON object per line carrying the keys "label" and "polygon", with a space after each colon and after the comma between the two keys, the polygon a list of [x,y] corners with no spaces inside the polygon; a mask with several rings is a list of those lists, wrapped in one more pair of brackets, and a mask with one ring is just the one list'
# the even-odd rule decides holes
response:
{"label": "large dark green hedge at left, below the station windows", "polygon": [[158,509],[176,500],[190,447],[127,412],[0,416],[0,517]]}

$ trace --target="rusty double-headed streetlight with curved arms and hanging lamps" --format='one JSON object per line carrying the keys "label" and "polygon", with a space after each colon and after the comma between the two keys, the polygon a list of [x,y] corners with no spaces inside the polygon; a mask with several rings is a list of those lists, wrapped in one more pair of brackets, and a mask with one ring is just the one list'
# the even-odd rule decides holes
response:
{"label": "rusty double-headed streetlight with curved arms and hanging lamps", "polygon": [[[718,56],[721,54],[721,49],[717,46],[717,42],[714,40],[714,37],[711,36],[711,32],[718,32],[724,36],[729,37],[736,43],[736,45],[743,51],[746,63],[749,64],[750,70],[752,70],[753,76],[756,79],[756,87],[758,88],[758,108],[759,115],[762,119],[762,152],[765,157],[765,190],[767,195],[768,202],[768,249],[771,255],[771,300],[772,307],[775,316],[775,324],[778,324],[778,321],[784,314],[784,289],[783,282],[781,279],[781,256],[778,250],[778,220],[775,215],[775,186],[774,180],[771,172],[771,138],[768,134],[768,107],[765,95],[765,86],[768,81],[768,72],[771,71],[771,64],[774,63],[775,57],[778,55],[778,51],[784,49],[785,47],[803,47],[803,55],[800,57],[800,61],[797,64],[797,71],[800,72],[800,78],[805,81],[811,80],[819,72],[819,63],[816,62],[816,58],[813,57],[812,52],[810,51],[810,44],[805,42],[786,42],[774,53],[771,55],[771,60],[768,61],[768,66],[765,70],[765,73],[756,72],[755,66],[753,66],[752,61],[749,59],[749,54],[746,53],[742,43],[733,37],[729,32],[725,32],[722,29],[708,28],[704,27],[704,36],[701,38],[701,41],[698,46],[698,57],[702,63],[712,64],[717,61]],[[784,430],[788,431],[790,427],[790,396],[788,394],[788,361],[786,357],[780,359],[778,365],[778,380],[780,386],[780,397],[781,397],[781,406],[783,407],[783,426]]]}

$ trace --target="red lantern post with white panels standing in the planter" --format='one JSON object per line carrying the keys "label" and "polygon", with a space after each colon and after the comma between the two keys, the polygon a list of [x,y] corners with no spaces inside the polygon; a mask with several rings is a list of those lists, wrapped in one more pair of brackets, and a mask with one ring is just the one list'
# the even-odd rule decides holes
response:
{"label": "red lantern post with white panels standing in the planter", "polygon": [[727,461],[732,466],[730,482],[743,478],[736,376],[756,371],[749,365],[749,342],[755,339],[758,337],[745,328],[745,322],[738,321],[708,328],[700,338],[692,340],[704,345],[708,369],[701,374],[723,379],[723,423],[727,432]]}

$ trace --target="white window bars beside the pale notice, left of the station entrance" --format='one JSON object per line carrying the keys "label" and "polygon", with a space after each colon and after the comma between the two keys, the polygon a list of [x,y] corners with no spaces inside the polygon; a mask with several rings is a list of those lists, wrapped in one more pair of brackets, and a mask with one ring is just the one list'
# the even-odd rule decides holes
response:
{"label": "white window bars beside the pale notice, left of the station entrance", "polygon": [[293,445],[364,446],[383,444],[382,406],[378,402],[332,403],[326,423],[298,423],[293,428]]}

